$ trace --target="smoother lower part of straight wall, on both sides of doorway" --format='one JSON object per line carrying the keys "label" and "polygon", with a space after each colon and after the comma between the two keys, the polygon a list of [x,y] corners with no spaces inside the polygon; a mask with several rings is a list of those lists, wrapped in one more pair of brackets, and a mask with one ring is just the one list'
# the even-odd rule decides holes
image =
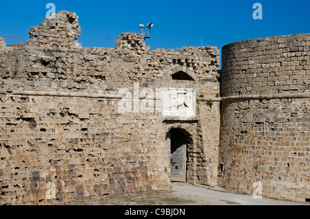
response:
{"label": "smoother lower part of straight wall, on both sides of doorway", "polygon": [[[56,204],[85,196],[169,189],[165,136],[172,127],[191,134],[187,182],[216,183],[219,101],[211,107],[198,102],[199,122],[164,122],[156,109],[118,112],[121,95],[116,88],[103,86],[102,95],[110,96],[97,97],[92,93],[95,85],[71,92],[68,85],[52,92],[50,83],[37,82],[1,81],[7,90],[0,98],[2,204]],[[189,84],[172,81],[172,87],[197,88]],[[155,90],[158,85],[149,87]],[[48,197],[50,191],[55,197]]]}

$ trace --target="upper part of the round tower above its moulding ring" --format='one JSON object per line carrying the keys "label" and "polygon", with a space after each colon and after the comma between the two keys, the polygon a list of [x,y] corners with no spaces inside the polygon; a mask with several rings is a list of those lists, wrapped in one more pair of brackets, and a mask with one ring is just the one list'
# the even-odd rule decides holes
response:
{"label": "upper part of the round tower above its moulding ring", "polygon": [[224,46],[223,94],[309,92],[309,46],[309,34],[272,36]]}

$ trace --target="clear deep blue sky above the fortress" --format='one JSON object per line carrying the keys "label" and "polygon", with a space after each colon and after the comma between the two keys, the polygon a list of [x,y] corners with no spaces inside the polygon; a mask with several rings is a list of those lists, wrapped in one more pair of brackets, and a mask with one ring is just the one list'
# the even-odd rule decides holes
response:
{"label": "clear deep blue sky above the fortress", "polygon": [[[28,39],[30,27],[45,19],[47,3],[56,12],[76,12],[83,47],[114,48],[122,32],[141,32],[139,23],[154,23],[147,45],[156,48],[223,45],[244,39],[310,32],[309,0],[118,0],[1,1],[0,36]],[[254,20],[254,3],[262,4],[262,20]],[[6,39],[7,44],[18,39]]]}

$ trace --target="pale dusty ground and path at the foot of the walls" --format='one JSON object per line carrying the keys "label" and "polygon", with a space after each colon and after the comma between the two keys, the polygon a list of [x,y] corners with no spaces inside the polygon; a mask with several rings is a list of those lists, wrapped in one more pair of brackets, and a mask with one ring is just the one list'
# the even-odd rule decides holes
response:
{"label": "pale dusty ground and path at the foot of the walls", "polygon": [[172,191],[146,191],[89,197],[66,202],[65,205],[310,205],[271,198],[255,199],[206,186],[174,183]]}

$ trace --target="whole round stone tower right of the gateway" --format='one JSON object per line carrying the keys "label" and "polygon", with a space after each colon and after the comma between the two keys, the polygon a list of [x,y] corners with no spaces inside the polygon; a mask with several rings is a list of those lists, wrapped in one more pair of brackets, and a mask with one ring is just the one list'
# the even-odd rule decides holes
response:
{"label": "whole round stone tower right of the gateway", "polygon": [[310,197],[310,34],[223,48],[219,185],[305,202]]}

